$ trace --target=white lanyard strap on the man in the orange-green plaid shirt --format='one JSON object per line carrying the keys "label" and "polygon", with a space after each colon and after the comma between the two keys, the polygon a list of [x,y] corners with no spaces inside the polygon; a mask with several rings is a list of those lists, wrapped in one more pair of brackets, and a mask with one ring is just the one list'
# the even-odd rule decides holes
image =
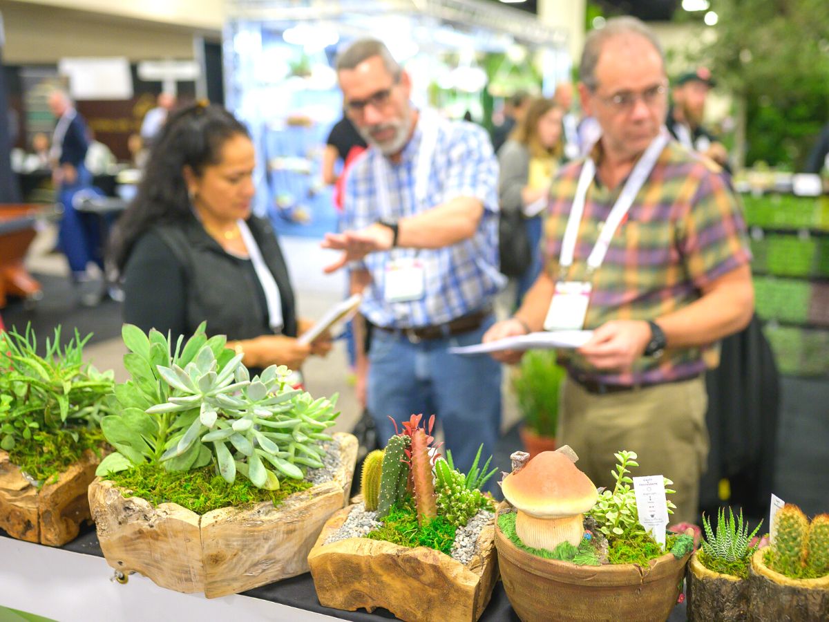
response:
{"label": "white lanyard strap on the man in the orange-green plaid shirt", "polygon": [[[616,204],[608,215],[608,220],[602,226],[602,231],[599,233],[599,239],[590,255],[587,258],[587,268],[589,272],[594,272],[599,269],[599,266],[604,262],[604,255],[607,255],[610,241],[616,234],[619,223],[627,216],[633,205],[633,199],[636,198],[639,190],[647,181],[653,167],[656,166],[659,154],[668,143],[667,132],[662,130],[660,134],[651,141],[651,144],[642,153],[642,158],[633,167],[633,172],[630,173],[628,181],[619,194]],[[593,178],[596,175],[596,163],[593,158],[587,158],[584,161],[584,166],[581,169],[579,176],[579,183],[576,186],[575,197],[573,199],[573,207],[570,208],[570,218],[567,220],[567,228],[565,229],[564,241],[561,243],[561,256],[559,265],[562,270],[566,270],[573,265],[573,255],[575,252],[575,243],[579,237],[579,225],[581,224],[581,217],[584,214],[584,200],[587,197],[587,190],[590,184],[593,183]]]}

